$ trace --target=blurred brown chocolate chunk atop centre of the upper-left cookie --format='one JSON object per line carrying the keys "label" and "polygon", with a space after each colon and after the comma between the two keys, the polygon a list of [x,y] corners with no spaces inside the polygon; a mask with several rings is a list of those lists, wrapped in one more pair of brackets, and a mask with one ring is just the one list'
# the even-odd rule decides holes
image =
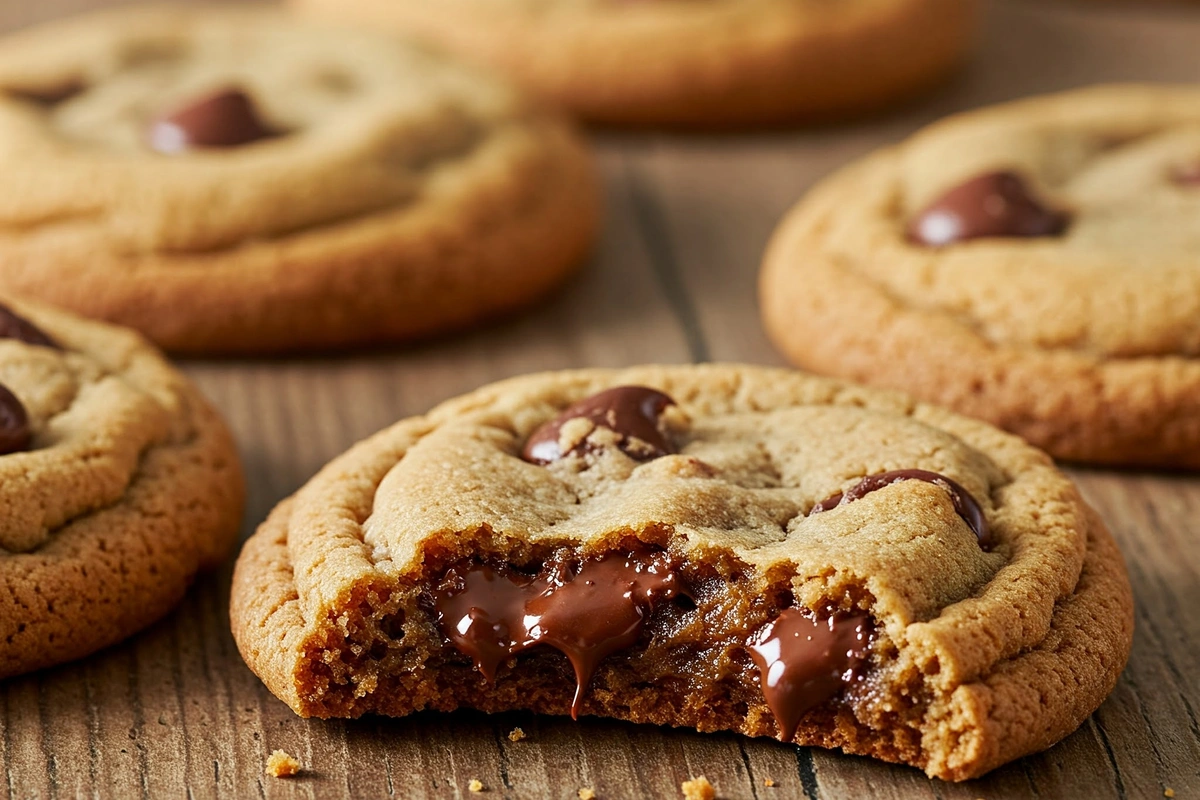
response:
{"label": "blurred brown chocolate chunk atop centre of the upper-left cookie", "polygon": [[158,152],[236,148],[277,136],[239,89],[226,89],[175,109],[150,125],[149,144]]}

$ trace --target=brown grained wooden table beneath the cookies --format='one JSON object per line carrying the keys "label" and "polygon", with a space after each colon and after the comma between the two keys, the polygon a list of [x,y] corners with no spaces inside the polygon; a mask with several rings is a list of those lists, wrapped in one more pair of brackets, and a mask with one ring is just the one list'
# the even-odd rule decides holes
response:
{"label": "brown grained wooden table beneath the cookies", "polygon": [[[436,1],[436,0],[431,0]],[[0,0],[0,28],[96,0]],[[758,326],[758,255],[784,210],[846,160],[944,113],[1116,79],[1194,80],[1200,10],[997,0],[971,67],[906,112],[737,137],[599,139],[608,221],[548,305],[474,335],[336,359],[190,363],[241,443],[245,530],[355,440],[486,381],[646,361],[779,363]],[[0,179],[2,180],[2,179]],[[2,184],[0,184],[2,185]],[[242,664],[229,567],[169,618],[84,662],[0,684],[12,798],[1200,798],[1200,479],[1074,470],[1116,533],[1138,595],[1134,652],[1112,697],[1046,753],[967,784],[772,740],[512,714],[300,720]],[[520,726],[528,734],[511,742]],[[304,777],[264,777],[274,748]],[[764,781],[774,781],[767,788]],[[2,789],[0,789],[2,792]]]}

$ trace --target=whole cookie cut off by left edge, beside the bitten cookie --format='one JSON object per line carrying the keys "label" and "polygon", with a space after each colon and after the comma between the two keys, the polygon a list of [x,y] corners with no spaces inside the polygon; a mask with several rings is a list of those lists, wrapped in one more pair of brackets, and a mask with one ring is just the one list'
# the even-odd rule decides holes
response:
{"label": "whole cookie cut off by left edge, beside the bitten cookie", "polygon": [[242,477],[199,391],[132,331],[0,306],[0,678],[166,614],[233,547]]}

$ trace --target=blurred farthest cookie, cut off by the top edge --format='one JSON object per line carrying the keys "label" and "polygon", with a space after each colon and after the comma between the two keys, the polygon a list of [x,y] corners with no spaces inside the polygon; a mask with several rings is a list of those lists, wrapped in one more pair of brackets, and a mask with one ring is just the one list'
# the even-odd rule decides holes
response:
{"label": "blurred farthest cookie, cut off by the top edge", "polygon": [[582,118],[734,126],[845,116],[961,59],[976,0],[292,0],[498,68]]}

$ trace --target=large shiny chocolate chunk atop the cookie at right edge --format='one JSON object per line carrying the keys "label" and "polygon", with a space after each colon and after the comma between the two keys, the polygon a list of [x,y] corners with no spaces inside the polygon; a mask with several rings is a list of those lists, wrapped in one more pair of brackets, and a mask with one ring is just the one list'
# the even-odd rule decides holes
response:
{"label": "large shiny chocolate chunk atop the cookie at right edge", "polygon": [[908,223],[908,239],[941,247],[984,236],[1056,236],[1069,218],[1042,205],[1016,173],[972,178],[928,205]]}

